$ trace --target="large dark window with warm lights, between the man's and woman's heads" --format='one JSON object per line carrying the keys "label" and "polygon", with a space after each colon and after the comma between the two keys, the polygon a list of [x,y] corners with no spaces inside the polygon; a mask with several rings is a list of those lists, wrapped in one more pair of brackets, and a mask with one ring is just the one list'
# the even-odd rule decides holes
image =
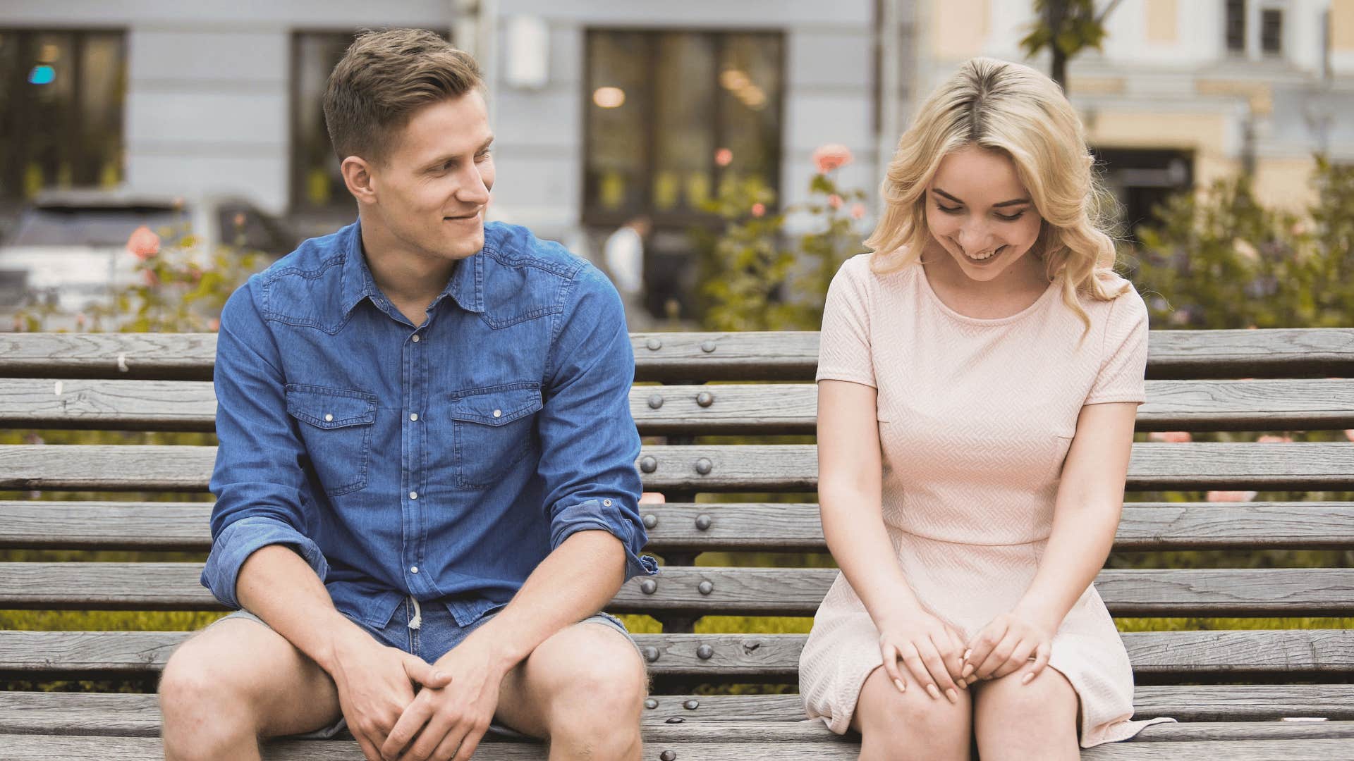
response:
{"label": "large dark window with warm lights, between the man's and woman's heads", "polygon": [[588,32],[584,221],[705,218],[724,177],[780,184],[783,37]]}

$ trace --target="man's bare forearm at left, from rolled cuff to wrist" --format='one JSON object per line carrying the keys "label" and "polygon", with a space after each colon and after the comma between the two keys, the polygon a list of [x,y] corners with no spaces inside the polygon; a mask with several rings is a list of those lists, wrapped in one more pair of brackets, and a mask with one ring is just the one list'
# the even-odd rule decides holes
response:
{"label": "man's bare forearm at left, from rolled cuff to wrist", "polygon": [[306,561],[283,544],[261,547],[245,559],[236,597],[329,673],[338,643],[367,636],[334,608],[329,590]]}

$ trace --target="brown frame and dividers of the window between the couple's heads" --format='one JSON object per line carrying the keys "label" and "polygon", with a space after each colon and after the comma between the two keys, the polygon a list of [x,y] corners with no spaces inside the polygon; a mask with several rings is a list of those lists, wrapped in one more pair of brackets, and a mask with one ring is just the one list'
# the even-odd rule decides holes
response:
{"label": "brown frame and dividers of the window between the couple's heads", "polygon": [[[657,84],[658,84],[657,62],[659,53],[659,45],[657,42],[662,35],[700,34],[714,38],[715,66],[712,66],[709,92],[711,96],[714,97],[714,116],[711,119],[712,122],[711,129],[715,131],[716,138],[719,137],[718,129],[719,125],[722,123],[722,116],[723,116],[723,99],[718,97],[718,93],[720,88],[719,62],[723,60],[726,41],[730,37],[738,37],[738,35],[776,37],[780,42],[779,56],[776,61],[776,68],[780,73],[779,77],[780,93],[776,104],[776,123],[777,123],[779,139],[776,142],[776,149],[773,152],[773,160],[770,161],[766,183],[772,190],[776,191],[776,206],[780,206],[781,203],[780,186],[783,179],[781,165],[784,164],[785,160],[785,100],[787,100],[785,93],[788,92],[787,76],[785,76],[787,74],[785,62],[788,60],[787,56],[788,35],[785,34],[785,30],[774,27],[746,27],[746,28],[739,27],[739,28],[712,30],[709,27],[695,27],[695,26],[672,26],[672,27],[588,26],[582,30],[582,32],[584,32],[584,45],[581,46],[582,60],[580,66],[580,70],[582,72],[582,76],[580,77],[582,81],[582,87],[580,88],[580,103],[581,103],[580,118],[582,119],[580,134],[582,135],[582,161],[580,161],[578,167],[578,194],[580,194],[578,209],[580,209],[580,221],[584,226],[619,227],[620,225],[624,225],[626,222],[628,222],[630,219],[632,219],[639,214],[647,215],[653,221],[653,226],[655,229],[709,226],[714,223],[714,217],[703,211],[688,211],[688,210],[658,211],[653,207],[654,167],[657,161],[658,130],[659,130],[657,118],[657,99],[653,97],[649,102],[647,114],[645,114],[646,134],[643,141],[645,145],[643,209],[638,211],[627,211],[627,210],[608,211],[593,206],[588,192],[588,172],[589,172],[589,150],[592,148],[592,139],[593,139],[589,108],[593,107],[592,93],[594,89],[594,83],[590,79],[589,56],[592,53],[592,37],[594,34],[642,34],[653,41],[653,43],[647,46],[649,61],[647,61],[647,70],[645,80],[645,87],[647,87],[650,92],[657,92]],[[707,160],[709,164],[709,180],[711,180],[709,187],[718,188],[719,167],[715,165],[714,156],[707,157]]]}

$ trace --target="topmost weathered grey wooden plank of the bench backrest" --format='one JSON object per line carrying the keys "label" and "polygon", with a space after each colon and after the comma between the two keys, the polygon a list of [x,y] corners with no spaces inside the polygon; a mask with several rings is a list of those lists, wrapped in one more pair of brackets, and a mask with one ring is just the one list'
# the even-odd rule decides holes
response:
{"label": "topmost weathered grey wooden plank of the bench backrest", "polygon": [[[4,333],[0,376],[209,380],[215,345],[214,333]],[[812,380],[818,364],[815,332],[632,333],[631,345],[639,380]],[[1148,378],[1347,378],[1354,329],[1152,330],[1147,362]]]}

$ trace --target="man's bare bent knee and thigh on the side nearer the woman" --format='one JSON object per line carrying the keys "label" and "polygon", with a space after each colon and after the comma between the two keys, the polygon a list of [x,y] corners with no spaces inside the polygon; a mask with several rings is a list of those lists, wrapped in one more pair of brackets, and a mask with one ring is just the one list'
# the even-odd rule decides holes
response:
{"label": "man's bare bent knee and thigh on the side nearer the woman", "polygon": [[496,718],[548,739],[550,761],[638,761],[646,695],[635,646],[607,624],[577,623],[508,672]]}

